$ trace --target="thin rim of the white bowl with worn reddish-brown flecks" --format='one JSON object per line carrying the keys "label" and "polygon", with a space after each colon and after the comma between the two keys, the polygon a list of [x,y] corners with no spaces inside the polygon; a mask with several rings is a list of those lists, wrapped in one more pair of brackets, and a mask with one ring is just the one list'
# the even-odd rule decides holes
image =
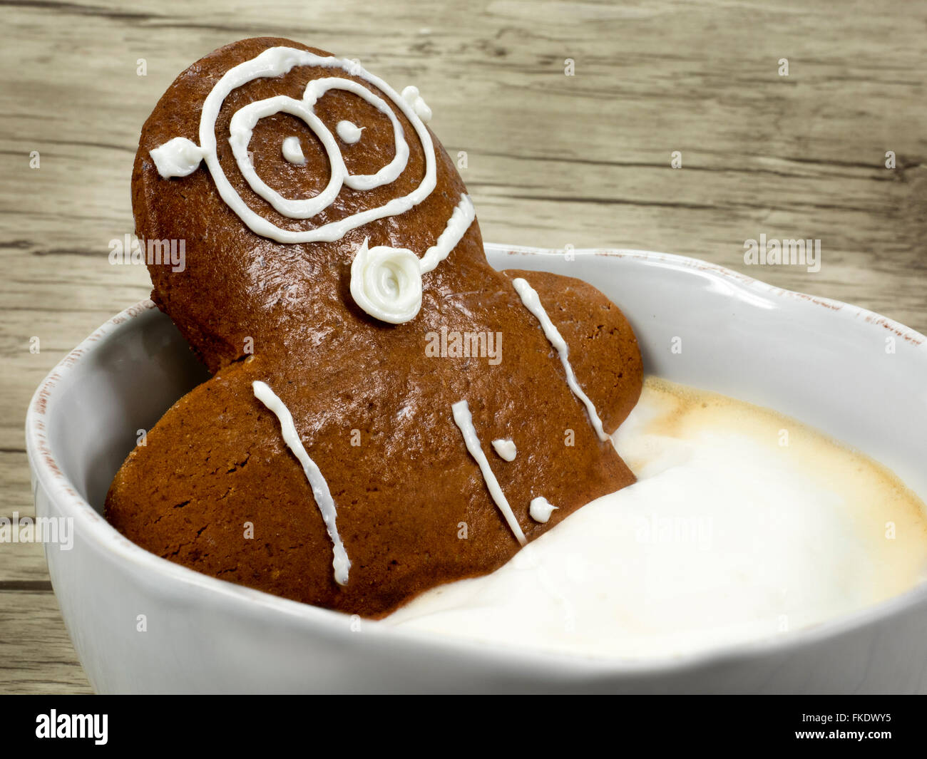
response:
{"label": "thin rim of the white bowl with worn reddish-brown flecks", "polygon": [[[487,243],[487,252],[506,256],[540,256],[563,258],[564,249],[513,246]],[[734,272],[715,263],[671,253],[659,253],[637,248],[576,248],[570,251],[576,256],[603,256],[611,259],[639,259],[669,270],[697,270],[723,280],[738,290],[749,289],[770,297],[787,297],[814,304],[832,313],[834,317],[847,322],[865,323],[894,332],[913,348],[924,349],[927,337],[873,311],[853,306],[839,300],[816,297],[768,285],[741,272]],[[204,575],[182,564],[173,563],[135,545],[124,538],[106,519],[81,496],[67,476],[57,466],[55,456],[45,434],[46,411],[56,398],[60,386],[67,384],[68,375],[74,368],[100,348],[107,339],[118,335],[126,325],[145,316],[157,305],[149,298],[122,310],[98,327],[91,335],[70,352],[44,377],[30,400],[26,413],[25,437],[27,457],[34,478],[44,489],[49,500],[54,501],[66,516],[74,518],[81,528],[90,548],[111,555],[116,562],[132,563],[136,569],[151,573],[151,577],[166,576],[185,586],[202,588],[218,593],[229,601],[239,601],[273,610],[275,613],[297,620],[303,626],[322,626],[327,632],[341,632],[352,615],[273,596],[255,588],[248,588],[217,577]],[[34,488],[33,488],[34,489]],[[33,494],[34,495],[34,494]],[[57,592],[57,591],[56,591]],[[376,625],[364,620],[365,634],[391,639],[395,643],[413,643],[428,646],[433,652],[451,655],[469,655],[504,660],[511,668],[535,668],[545,666],[552,673],[551,666],[559,664],[562,671],[573,674],[594,673],[597,676],[620,677],[651,675],[658,677],[681,673],[717,664],[736,664],[745,659],[773,654],[787,654],[789,651],[819,643],[860,627],[880,622],[919,605],[927,604],[927,582],[921,582],[907,591],[878,603],[847,614],[838,614],[824,622],[767,637],[751,639],[733,645],[708,649],[667,653],[660,656],[629,657],[605,654],[583,654],[575,651],[553,651],[543,648],[522,649],[502,641],[466,639],[456,636],[442,636],[422,630],[406,629],[400,626]],[[308,628],[307,628],[308,629]],[[365,636],[366,637],[366,636]]]}

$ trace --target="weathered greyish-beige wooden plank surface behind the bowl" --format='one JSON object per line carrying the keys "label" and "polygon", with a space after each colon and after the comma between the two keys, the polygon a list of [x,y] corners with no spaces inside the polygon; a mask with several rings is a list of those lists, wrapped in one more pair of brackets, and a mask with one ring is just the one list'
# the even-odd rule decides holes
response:
{"label": "weathered greyish-beige wooden plank surface behind the bowl", "polygon": [[[142,122],[184,67],[241,37],[288,36],[418,85],[451,155],[467,153],[486,240],[696,256],[927,331],[921,3],[222,5],[0,8],[0,515],[32,515],[35,386],[147,296],[144,267],[108,263],[108,241],[133,231]],[[820,271],[745,265],[760,234],[819,239]],[[89,690],[41,547],[0,544],[0,692]]]}

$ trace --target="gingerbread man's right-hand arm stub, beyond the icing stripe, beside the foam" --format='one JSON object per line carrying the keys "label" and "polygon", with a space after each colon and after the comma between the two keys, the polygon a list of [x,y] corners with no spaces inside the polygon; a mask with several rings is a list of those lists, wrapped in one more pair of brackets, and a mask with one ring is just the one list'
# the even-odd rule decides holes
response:
{"label": "gingerbread man's right-hand arm stub, beyond the icing stripe, beside the foam", "polygon": [[641,349],[625,315],[595,287],[549,272],[508,269],[538,293],[569,348],[579,386],[598,411],[605,432],[615,432],[641,397]]}

